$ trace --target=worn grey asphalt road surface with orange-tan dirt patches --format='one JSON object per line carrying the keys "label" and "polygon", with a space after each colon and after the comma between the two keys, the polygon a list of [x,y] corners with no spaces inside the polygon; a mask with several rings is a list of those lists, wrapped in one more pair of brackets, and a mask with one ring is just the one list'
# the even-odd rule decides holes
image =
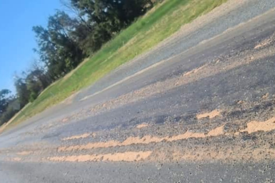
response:
{"label": "worn grey asphalt road surface with orange-tan dirt patches", "polygon": [[274,183],[275,2],[243,2],[258,13],[2,133],[0,183]]}

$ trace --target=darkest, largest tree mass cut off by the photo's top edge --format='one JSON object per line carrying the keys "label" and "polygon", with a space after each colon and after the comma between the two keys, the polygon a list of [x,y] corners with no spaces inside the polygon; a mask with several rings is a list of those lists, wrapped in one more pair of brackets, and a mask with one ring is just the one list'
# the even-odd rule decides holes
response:
{"label": "darkest, largest tree mass cut off by the photo's top edge", "polygon": [[151,0],[68,0],[64,3],[74,10],[78,21],[71,35],[87,55],[99,50],[153,6]]}

